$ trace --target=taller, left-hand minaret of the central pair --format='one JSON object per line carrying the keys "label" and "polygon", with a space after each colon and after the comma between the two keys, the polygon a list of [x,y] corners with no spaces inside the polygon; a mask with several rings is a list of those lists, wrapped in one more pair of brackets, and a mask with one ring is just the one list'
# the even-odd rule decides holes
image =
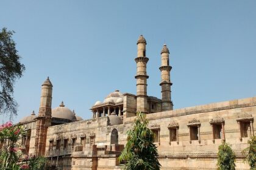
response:
{"label": "taller, left-hand minaret of the central pair", "polygon": [[146,57],[146,39],[141,35],[138,38],[138,53],[135,61],[137,63],[137,112],[148,113],[148,96],[147,96],[147,63],[149,58]]}

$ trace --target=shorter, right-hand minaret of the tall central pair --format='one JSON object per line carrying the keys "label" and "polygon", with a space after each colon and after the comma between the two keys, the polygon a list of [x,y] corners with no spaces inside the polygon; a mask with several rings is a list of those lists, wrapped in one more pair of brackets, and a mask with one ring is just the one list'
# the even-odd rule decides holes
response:
{"label": "shorter, right-hand minaret of the tall central pair", "polygon": [[172,110],[173,104],[171,101],[171,80],[170,80],[170,71],[171,66],[169,66],[169,49],[166,47],[166,44],[163,45],[161,51],[162,64],[159,67],[161,71],[161,83],[162,87],[162,111]]}

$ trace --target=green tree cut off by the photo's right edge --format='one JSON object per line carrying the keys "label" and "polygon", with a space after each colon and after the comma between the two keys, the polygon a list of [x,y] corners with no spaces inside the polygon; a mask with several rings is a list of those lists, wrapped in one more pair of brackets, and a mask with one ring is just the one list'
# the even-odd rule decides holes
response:
{"label": "green tree cut off by the photo's right edge", "polygon": [[256,137],[252,136],[248,144],[249,146],[242,151],[242,154],[246,155],[244,160],[249,163],[251,169],[256,169]]}

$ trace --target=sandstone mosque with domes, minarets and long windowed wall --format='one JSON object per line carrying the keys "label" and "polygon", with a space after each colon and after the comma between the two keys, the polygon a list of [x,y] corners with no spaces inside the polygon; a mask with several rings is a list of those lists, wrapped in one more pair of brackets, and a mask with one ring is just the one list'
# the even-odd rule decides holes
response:
{"label": "sandstone mosque with domes, minarets and long windowed wall", "polygon": [[[216,169],[222,141],[236,153],[236,169],[249,169],[241,150],[255,135],[256,97],[173,110],[169,50],[160,52],[162,98],[148,96],[146,39],[138,38],[137,94],[110,93],[91,107],[91,119],[82,120],[60,103],[52,109],[52,83],[41,85],[39,113],[20,120],[27,131],[22,138],[29,154],[43,155],[56,169],[123,169],[118,156],[126,144],[136,112],[144,112],[155,133],[161,169]],[[39,101],[39,100],[38,100]]]}

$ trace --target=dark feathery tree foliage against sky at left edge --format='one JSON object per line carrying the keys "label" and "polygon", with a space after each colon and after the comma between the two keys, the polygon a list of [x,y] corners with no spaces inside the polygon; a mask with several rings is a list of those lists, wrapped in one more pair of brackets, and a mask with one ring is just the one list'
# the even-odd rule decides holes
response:
{"label": "dark feathery tree foliage against sky at left edge", "polygon": [[0,114],[8,113],[10,118],[16,115],[18,106],[13,98],[13,85],[25,70],[12,39],[13,33],[6,28],[0,31]]}

